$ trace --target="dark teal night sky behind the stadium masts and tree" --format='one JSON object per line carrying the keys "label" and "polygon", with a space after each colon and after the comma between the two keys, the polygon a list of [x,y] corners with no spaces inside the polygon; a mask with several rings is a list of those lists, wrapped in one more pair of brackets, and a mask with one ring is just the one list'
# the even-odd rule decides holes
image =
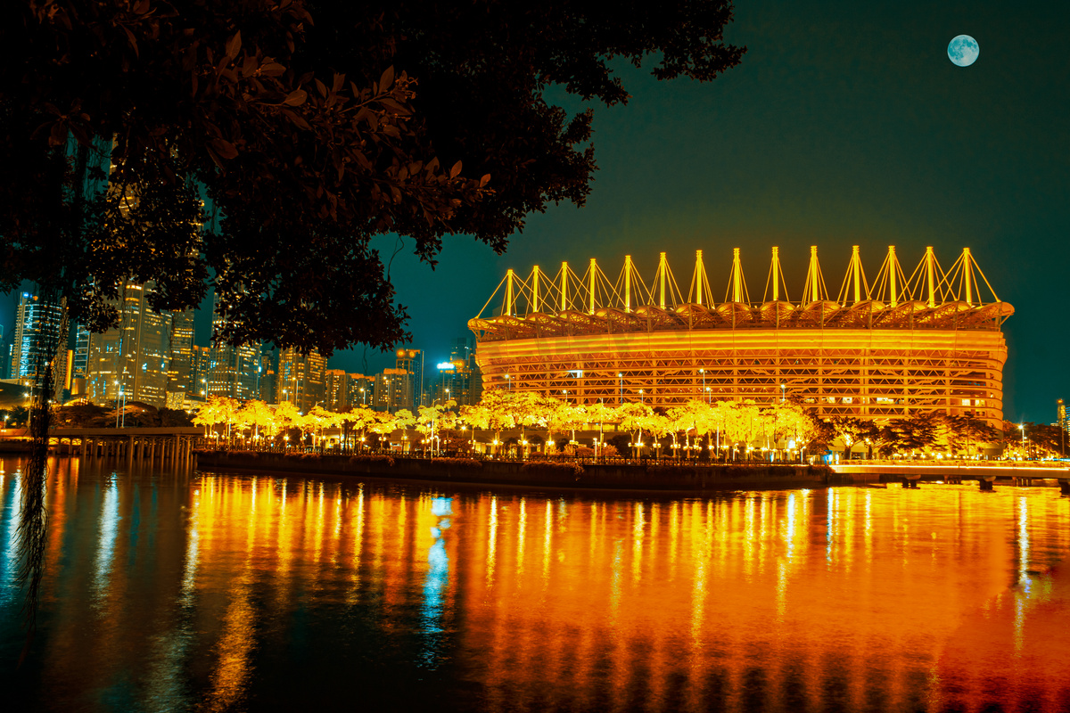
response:
{"label": "dark teal night sky behind the stadium masts and tree", "polygon": [[[627,106],[595,107],[599,170],[587,205],[531,216],[503,257],[468,236],[445,241],[431,272],[394,260],[413,346],[428,363],[490,296],[505,269],[551,275],[590,258],[615,278],[630,253],[649,281],[658,252],[688,282],[704,250],[722,299],[732,248],[743,249],[761,299],[769,249],[780,246],[793,299],[809,246],[819,246],[835,298],[851,246],[872,282],[888,245],[910,275],[927,245],[945,269],[964,246],[1017,313],[1005,325],[1005,418],[1051,422],[1070,398],[1064,288],[1068,201],[1070,9],[1049,2],[859,3],[816,7],[738,0],[727,40],[743,63],[709,83],[658,82],[620,67]],[[937,6],[933,6],[937,5]],[[980,57],[953,65],[948,42],[974,36]],[[569,109],[582,105],[559,97]],[[394,239],[379,242],[384,260]],[[685,286],[685,285],[682,285]],[[10,300],[9,300],[10,301]],[[3,324],[11,324],[10,306]],[[210,317],[198,322],[198,343]],[[374,373],[393,355],[339,353],[332,368]]]}

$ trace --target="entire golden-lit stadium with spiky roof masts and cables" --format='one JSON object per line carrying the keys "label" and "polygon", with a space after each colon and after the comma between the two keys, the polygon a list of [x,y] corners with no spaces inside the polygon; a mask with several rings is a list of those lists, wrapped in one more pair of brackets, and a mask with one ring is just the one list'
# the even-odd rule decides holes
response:
{"label": "entire golden-lit stadium with spiky roof masts and cables", "polygon": [[567,263],[554,276],[509,269],[469,328],[485,388],[652,406],[797,398],[825,418],[939,410],[995,424],[1013,313],[969,248],[946,272],[927,248],[907,277],[889,247],[871,283],[855,246],[832,299],[813,247],[797,300],[773,248],[762,301],[736,248],[723,301],[701,250],[686,298],[664,252],[648,283],[630,255],[612,281],[592,259],[582,277]]}

